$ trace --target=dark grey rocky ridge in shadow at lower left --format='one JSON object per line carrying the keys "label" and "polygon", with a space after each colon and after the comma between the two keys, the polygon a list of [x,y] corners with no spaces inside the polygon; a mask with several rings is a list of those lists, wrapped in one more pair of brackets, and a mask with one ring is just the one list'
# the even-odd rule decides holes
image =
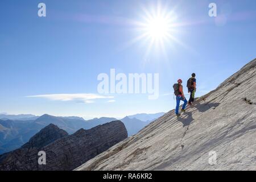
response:
{"label": "dark grey rocky ridge in shadow at lower left", "polygon": [[[49,125],[40,132],[52,135],[54,130]],[[61,138],[49,144],[51,138],[44,136],[46,140],[36,134],[18,150],[0,155],[0,170],[72,170],[126,139],[127,130],[121,121],[113,121],[68,136],[59,129]],[[38,164],[39,151],[46,152],[46,165]]]}

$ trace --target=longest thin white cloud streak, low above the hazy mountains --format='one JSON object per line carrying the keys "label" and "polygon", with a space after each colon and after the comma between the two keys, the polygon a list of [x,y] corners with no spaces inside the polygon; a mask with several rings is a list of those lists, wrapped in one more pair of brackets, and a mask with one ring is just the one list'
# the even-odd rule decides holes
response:
{"label": "longest thin white cloud streak, low above the hazy mountains", "polygon": [[27,97],[36,97],[36,98],[47,98],[52,101],[77,101],[84,103],[93,103],[93,100],[101,98],[114,98],[113,96],[102,96],[99,94],[93,93],[75,93],[75,94],[44,94],[36,96],[27,96]]}

